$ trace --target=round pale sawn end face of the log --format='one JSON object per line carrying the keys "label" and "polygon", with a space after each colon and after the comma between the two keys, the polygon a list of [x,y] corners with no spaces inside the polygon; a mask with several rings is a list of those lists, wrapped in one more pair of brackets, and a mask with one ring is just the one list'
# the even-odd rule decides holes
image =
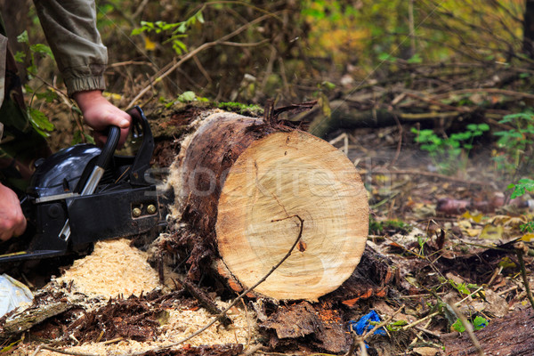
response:
{"label": "round pale sawn end face of the log", "polygon": [[368,202],[342,152],[311,134],[275,132],[252,142],[225,177],[216,243],[231,273],[276,299],[316,301],[348,279],[365,248]]}

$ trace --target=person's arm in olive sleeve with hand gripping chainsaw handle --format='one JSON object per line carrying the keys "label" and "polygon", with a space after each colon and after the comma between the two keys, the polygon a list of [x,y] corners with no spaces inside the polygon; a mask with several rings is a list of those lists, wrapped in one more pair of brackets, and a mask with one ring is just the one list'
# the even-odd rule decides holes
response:
{"label": "person's arm in olive sleeve with hand gripping chainsaw handle", "polygon": [[131,117],[101,95],[108,52],[96,28],[94,1],[34,0],[34,4],[68,93],[95,131],[95,140],[105,142],[104,130],[117,125],[122,129],[122,144]]}

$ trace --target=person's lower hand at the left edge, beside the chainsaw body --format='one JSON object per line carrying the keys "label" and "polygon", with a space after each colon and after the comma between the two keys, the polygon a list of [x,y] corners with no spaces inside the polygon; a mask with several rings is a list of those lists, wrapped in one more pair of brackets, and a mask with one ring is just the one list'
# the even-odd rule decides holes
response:
{"label": "person's lower hand at the left edge, beside the chainsaw body", "polygon": [[0,183],[0,239],[20,236],[26,230],[26,218],[22,214],[17,194]]}

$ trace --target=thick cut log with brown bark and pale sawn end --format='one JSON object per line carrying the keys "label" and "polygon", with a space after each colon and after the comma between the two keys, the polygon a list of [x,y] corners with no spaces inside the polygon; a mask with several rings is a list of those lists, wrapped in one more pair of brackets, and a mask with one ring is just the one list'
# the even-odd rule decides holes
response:
{"label": "thick cut log with brown bark and pale sawn end", "polygon": [[242,287],[271,271],[299,236],[256,293],[314,301],[351,276],[367,239],[368,199],[341,151],[228,112],[196,125],[174,163],[177,205]]}

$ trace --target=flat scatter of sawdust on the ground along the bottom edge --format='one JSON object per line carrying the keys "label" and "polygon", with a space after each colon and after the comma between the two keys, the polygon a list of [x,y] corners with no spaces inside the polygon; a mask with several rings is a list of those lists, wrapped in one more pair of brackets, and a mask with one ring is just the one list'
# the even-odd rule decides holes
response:
{"label": "flat scatter of sawdust on the ground along the bottom edge", "polygon": [[[220,309],[224,309],[230,304],[221,301],[216,303]],[[115,344],[91,343],[62,348],[62,350],[95,355],[129,355],[134,352],[147,352],[158,346],[181,341],[185,336],[189,336],[199,328],[206,326],[214,318],[202,308],[198,310],[177,308],[169,309],[167,312],[169,313],[168,320],[161,327],[162,332],[155,341],[141,343],[134,340],[122,340]],[[223,328],[215,323],[203,333],[174,348],[215,344],[243,344],[245,346],[255,344],[258,331],[254,312],[234,307],[228,312],[228,316],[233,321],[230,327]],[[25,350],[25,352],[32,352],[32,350]],[[39,356],[48,355],[57,355],[57,353],[45,350],[39,352]]]}

